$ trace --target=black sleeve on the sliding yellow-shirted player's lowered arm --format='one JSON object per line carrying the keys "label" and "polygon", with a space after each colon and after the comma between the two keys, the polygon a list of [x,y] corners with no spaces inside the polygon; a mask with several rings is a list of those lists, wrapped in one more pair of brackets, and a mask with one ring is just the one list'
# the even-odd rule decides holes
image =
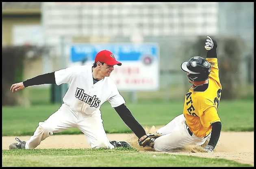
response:
{"label": "black sleeve on the sliding yellow-shirted player's lowered arm", "polygon": [[218,141],[219,141],[219,136],[221,133],[221,127],[222,124],[221,122],[214,122],[212,124],[212,131],[210,134],[210,140],[208,142],[208,145],[213,146],[213,148],[215,148],[215,146],[217,145]]}

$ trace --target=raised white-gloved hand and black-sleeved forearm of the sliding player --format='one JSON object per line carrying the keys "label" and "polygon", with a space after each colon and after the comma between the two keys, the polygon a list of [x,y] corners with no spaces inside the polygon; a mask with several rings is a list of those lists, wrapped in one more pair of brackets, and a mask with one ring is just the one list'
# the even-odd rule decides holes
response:
{"label": "raised white-gloved hand and black-sleeved forearm of the sliding player", "polygon": [[217,58],[217,42],[210,36],[207,36],[204,48],[207,50],[206,58]]}

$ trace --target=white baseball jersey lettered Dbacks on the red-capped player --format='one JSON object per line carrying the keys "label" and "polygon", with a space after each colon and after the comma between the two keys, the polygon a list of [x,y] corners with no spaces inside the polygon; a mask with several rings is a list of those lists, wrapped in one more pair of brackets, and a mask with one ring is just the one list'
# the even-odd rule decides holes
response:
{"label": "white baseball jersey lettered Dbacks on the red-capped player", "polygon": [[93,84],[91,65],[75,65],[55,71],[55,80],[58,86],[69,84],[63,102],[76,112],[100,113],[105,101],[109,101],[111,107],[125,103],[111,77],[104,77]]}

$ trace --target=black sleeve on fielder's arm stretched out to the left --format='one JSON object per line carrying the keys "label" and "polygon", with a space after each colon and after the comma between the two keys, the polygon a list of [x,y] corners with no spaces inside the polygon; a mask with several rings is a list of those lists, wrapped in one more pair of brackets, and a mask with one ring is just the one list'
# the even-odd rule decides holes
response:
{"label": "black sleeve on fielder's arm stretched out to the left", "polygon": [[56,84],[54,72],[38,75],[36,77],[23,81],[23,85],[25,88],[28,86],[42,84]]}

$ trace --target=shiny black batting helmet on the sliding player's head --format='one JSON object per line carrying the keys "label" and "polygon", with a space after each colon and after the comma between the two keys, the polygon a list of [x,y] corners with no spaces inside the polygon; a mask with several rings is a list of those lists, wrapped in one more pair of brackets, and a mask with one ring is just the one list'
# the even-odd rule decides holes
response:
{"label": "shiny black batting helmet on the sliding player's head", "polygon": [[201,56],[193,56],[187,62],[180,65],[182,71],[189,73],[190,81],[205,81],[209,78],[210,63]]}

